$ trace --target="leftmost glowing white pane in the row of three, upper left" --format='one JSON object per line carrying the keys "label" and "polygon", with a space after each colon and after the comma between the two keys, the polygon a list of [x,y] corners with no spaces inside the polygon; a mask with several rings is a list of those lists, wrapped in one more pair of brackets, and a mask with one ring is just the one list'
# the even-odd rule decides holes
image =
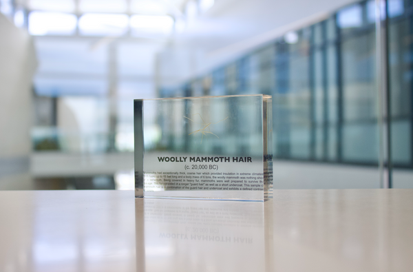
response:
{"label": "leftmost glowing white pane in the row of three, upper left", "polygon": [[60,12],[30,12],[29,32],[32,35],[70,35],[76,32],[76,15]]}

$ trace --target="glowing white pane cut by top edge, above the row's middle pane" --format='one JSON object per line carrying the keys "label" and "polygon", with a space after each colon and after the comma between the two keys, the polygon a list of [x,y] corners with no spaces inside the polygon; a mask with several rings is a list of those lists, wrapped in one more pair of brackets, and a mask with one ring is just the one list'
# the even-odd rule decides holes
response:
{"label": "glowing white pane cut by top edge, above the row's middle pane", "polygon": [[126,12],[125,0],[81,0],[79,8],[82,12]]}

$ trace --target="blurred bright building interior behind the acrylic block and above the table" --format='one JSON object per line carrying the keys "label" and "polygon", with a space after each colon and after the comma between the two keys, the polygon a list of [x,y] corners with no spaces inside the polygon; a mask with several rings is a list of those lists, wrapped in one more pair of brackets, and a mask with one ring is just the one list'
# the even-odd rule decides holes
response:
{"label": "blurred bright building interior behind the acrylic block and above the table", "polygon": [[413,188],[413,1],[0,0],[0,189],[133,189],[133,99],[271,94],[275,189]]}

